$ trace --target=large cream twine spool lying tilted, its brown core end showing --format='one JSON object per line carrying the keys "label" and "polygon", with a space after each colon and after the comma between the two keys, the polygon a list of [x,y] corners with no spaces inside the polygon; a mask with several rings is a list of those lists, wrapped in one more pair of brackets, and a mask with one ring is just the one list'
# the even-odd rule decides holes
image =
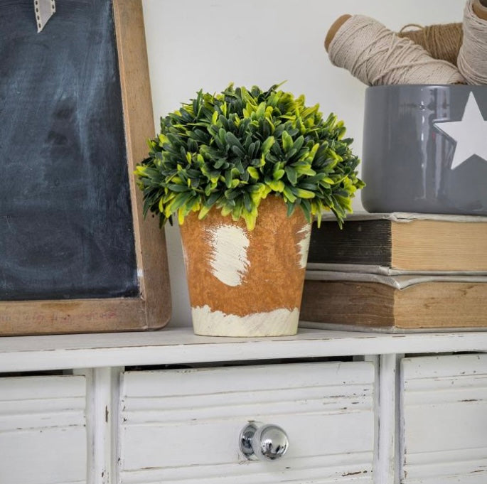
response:
{"label": "large cream twine spool lying tilted, its brown core end showing", "polygon": [[421,45],[400,38],[373,18],[350,16],[328,45],[331,63],[367,85],[456,84],[454,65],[436,60]]}

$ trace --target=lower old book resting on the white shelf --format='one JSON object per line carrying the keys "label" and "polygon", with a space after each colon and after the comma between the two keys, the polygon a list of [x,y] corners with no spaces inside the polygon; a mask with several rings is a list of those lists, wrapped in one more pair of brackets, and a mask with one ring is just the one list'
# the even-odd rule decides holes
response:
{"label": "lower old book resting on the white shelf", "polygon": [[487,329],[486,276],[307,271],[301,326],[349,330]]}

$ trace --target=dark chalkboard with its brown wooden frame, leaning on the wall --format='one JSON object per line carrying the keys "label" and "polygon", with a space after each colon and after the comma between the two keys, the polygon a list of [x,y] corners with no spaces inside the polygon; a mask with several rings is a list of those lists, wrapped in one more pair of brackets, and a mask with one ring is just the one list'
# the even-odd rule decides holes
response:
{"label": "dark chalkboard with its brown wooden frame, leaning on the wall", "polygon": [[140,1],[56,10],[37,33],[31,0],[0,0],[0,334],[164,326],[132,173],[154,131]]}

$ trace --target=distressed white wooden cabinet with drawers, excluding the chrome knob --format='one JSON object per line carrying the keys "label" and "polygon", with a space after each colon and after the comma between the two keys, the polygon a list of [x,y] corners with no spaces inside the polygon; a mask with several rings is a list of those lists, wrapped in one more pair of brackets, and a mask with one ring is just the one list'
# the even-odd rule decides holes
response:
{"label": "distressed white wooden cabinet with drawers, excluding the chrome knob", "polygon": [[[481,332],[0,338],[0,483],[485,484],[486,351]],[[247,461],[249,421],[289,451]]]}

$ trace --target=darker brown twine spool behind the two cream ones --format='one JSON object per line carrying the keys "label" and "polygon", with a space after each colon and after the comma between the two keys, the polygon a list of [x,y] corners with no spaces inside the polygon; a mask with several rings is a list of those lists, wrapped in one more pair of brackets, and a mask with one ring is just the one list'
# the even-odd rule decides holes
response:
{"label": "darker brown twine spool behind the two cream ones", "polygon": [[402,27],[397,35],[410,38],[421,45],[432,58],[456,65],[463,40],[463,28],[461,23],[441,23],[426,27],[409,24]]}

